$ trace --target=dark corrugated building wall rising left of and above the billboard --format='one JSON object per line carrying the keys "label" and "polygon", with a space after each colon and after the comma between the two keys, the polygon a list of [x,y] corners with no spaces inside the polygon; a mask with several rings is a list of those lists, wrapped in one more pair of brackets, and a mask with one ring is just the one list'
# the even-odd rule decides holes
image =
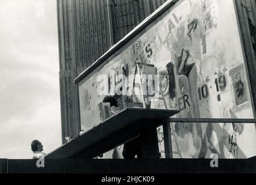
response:
{"label": "dark corrugated building wall rising left of and above the billboard", "polygon": [[167,0],[57,0],[63,143],[81,131],[73,80]]}

